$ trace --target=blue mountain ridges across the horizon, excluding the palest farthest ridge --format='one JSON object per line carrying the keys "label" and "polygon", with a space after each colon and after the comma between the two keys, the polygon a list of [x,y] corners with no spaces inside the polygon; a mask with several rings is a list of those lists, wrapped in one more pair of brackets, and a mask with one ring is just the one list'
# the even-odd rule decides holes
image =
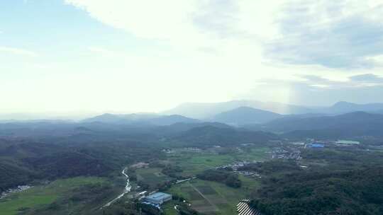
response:
{"label": "blue mountain ridges across the horizon, excluding the palest farthest ridge", "polygon": [[[379,108],[379,105],[376,108]],[[129,136],[132,139],[155,141],[164,136],[191,132],[196,136],[185,134],[185,136],[179,136],[177,139],[194,143],[201,141],[206,144],[209,141],[221,142],[223,136],[229,141],[234,141],[240,135],[247,136],[246,130],[251,132],[272,132],[289,139],[306,137],[317,139],[362,136],[382,137],[383,115],[376,112],[379,112],[379,110],[375,111],[375,113],[358,111],[341,115],[321,113],[279,115],[255,108],[240,107],[221,112],[207,121],[183,117],[182,115],[104,114],[91,117],[82,122],[33,120],[0,123],[0,136],[72,136],[74,140],[94,139],[94,136],[97,136],[96,139],[98,140],[103,139],[104,136]],[[205,129],[201,130],[206,132],[205,134],[197,132],[200,131],[199,128],[201,127],[205,127]],[[225,132],[228,135],[224,134]],[[213,137],[215,134],[219,135]],[[234,139],[228,137],[231,135],[234,136]],[[238,139],[247,141],[251,138]],[[73,142],[74,140],[71,139],[70,141]]]}

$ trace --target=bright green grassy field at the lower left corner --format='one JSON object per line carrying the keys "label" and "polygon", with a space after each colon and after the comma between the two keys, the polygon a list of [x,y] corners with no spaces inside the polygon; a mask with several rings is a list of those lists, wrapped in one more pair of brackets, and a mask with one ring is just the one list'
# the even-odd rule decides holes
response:
{"label": "bright green grassy field at the lower left corner", "polygon": [[70,178],[56,180],[48,185],[36,186],[23,192],[9,194],[8,197],[0,200],[0,214],[18,214],[22,209],[51,204],[74,188],[104,181],[103,178]]}

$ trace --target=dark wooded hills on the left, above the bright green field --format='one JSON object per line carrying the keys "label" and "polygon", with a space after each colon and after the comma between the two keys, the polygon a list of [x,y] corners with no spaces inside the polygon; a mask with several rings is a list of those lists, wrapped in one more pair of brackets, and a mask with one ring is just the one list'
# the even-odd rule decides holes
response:
{"label": "dark wooded hills on the left, above the bright green field", "polygon": [[108,177],[128,163],[161,156],[160,148],[150,143],[109,133],[104,133],[109,140],[102,142],[99,134],[87,134],[86,141],[82,140],[84,135],[78,135],[0,139],[0,192],[36,180]]}

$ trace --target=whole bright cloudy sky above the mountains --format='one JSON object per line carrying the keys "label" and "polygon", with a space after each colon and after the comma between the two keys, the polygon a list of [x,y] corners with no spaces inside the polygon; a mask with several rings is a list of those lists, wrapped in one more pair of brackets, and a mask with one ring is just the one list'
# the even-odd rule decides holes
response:
{"label": "whole bright cloudy sky above the mountains", "polygon": [[382,0],[0,1],[0,113],[382,95]]}

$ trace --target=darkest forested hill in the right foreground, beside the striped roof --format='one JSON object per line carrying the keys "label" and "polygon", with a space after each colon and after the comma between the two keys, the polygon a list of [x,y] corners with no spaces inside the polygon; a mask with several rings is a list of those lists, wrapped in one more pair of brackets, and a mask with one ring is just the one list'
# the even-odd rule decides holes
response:
{"label": "darkest forested hill in the right foreground, beside the striped roof", "polygon": [[313,171],[265,182],[252,205],[264,214],[383,214],[383,168]]}

